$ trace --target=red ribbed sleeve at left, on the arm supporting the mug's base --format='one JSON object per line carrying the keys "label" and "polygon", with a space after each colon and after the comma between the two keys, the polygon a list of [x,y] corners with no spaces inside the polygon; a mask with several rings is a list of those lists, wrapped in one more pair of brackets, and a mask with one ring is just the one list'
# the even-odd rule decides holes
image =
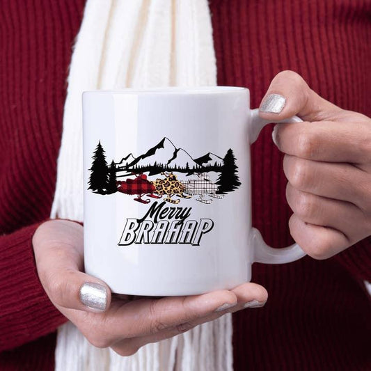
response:
{"label": "red ribbed sleeve at left, on the arm supporting the mug's base", "polygon": [[38,278],[31,239],[39,225],[0,237],[0,352],[51,333],[67,320]]}

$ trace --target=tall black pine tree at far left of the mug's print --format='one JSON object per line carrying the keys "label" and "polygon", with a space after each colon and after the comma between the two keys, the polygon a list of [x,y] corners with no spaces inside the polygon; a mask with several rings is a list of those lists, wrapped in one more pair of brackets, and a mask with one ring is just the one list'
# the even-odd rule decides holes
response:
{"label": "tall black pine tree at far left of the mug's print", "polygon": [[93,164],[89,169],[91,173],[88,182],[88,189],[96,191],[97,194],[106,194],[109,168],[106,163],[104,149],[100,143],[98,143],[92,158]]}

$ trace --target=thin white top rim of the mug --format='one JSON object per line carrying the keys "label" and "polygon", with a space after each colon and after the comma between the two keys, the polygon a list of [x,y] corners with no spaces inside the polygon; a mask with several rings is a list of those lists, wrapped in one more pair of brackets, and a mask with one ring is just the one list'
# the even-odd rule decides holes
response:
{"label": "thin white top rim of the mug", "polygon": [[202,95],[202,94],[226,94],[248,91],[242,86],[168,86],[164,88],[122,88],[118,90],[86,90],[82,94],[132,94],[132,95],[151,95],[151,94],[180,94],[180,95]]}

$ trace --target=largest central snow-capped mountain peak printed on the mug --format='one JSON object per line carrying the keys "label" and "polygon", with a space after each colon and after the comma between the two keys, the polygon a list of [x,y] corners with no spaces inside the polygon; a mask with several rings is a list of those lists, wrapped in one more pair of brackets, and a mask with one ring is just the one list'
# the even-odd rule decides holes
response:
{"label": "largest central snow-capped mountain peak printed on the mug", "polygon": [[145,168],[153,164],[163,164],[168,167],[185,168],[188,166],[198,166],[189,153],[182,148],[176,148],[173,142],[164,137],[155,147],[150,148],[144,155],[136,157],[134,161],[128,163],[129,167],[136,166]]}

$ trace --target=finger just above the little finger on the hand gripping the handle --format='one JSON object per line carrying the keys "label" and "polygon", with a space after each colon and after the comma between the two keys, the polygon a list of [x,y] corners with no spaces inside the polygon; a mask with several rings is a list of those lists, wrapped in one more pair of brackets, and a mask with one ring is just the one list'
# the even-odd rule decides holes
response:
{"label": "finger just above the little finger on the hand gripping the handle", "polygon": [[286,198],[301,221],[339,230],[350,241],[367,237],[370,232],[371,218],[366,218],[352,203],[299,191],[290,183],[287,183]]}

